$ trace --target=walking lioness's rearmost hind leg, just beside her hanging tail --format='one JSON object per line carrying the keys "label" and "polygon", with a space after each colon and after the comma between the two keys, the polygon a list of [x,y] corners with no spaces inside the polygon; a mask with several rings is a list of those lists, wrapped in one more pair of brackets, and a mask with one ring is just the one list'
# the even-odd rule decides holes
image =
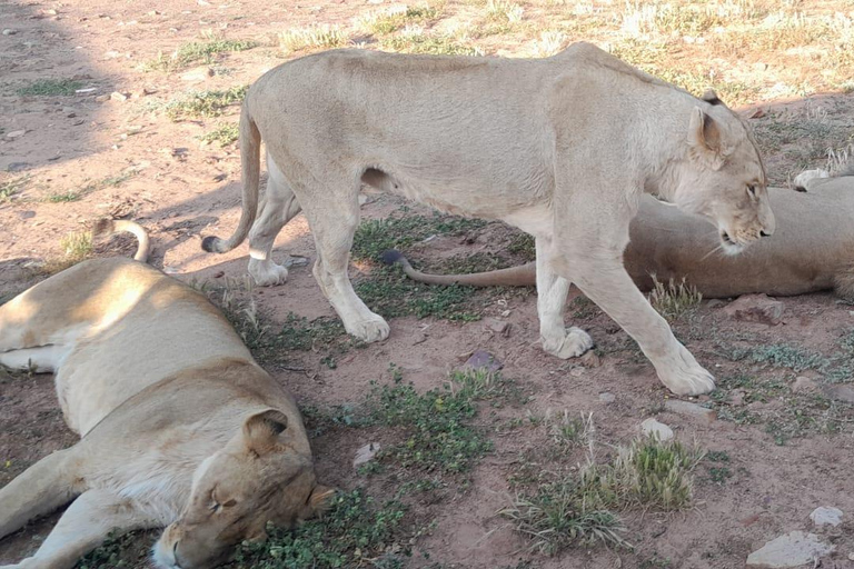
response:
{"label": "walking lioness's rearmost hind leg, just beside her hanging tail", "polygon": [[269,156],[267,169],[269,179],[260,214],[249,230],[249,274],[260,287],[281,284],[288,280],[288,269],[272,262],[270,254],[276,236],[301,209],[281,170]]}

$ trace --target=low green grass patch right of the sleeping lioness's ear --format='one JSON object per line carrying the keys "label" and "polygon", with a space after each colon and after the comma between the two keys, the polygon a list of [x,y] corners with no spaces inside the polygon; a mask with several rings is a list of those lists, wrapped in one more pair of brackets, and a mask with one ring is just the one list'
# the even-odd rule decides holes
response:
{"label": "low green grass patch right of the sleeping lioness's ear", "polygon": [[405,437],[383,449],[380,460],[421,472],[468,472],[493,449],[473,420],[476,400],[496,381],[493,373],[459,371],[441,389],[425,393],[400,382],[375,388],[368,402],[373,421],[401,429]]}

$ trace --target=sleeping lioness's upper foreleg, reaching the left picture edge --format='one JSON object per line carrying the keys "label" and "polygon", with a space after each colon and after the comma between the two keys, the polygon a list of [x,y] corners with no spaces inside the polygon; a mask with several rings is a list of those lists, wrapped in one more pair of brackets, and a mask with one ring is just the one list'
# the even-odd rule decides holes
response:
{"label": "sleeping lioness's upper foreleg, reaching the left picture edge", "polygon": [[80,493],[73,457],[75,447],[48,455],[0,488],[0,538]]}

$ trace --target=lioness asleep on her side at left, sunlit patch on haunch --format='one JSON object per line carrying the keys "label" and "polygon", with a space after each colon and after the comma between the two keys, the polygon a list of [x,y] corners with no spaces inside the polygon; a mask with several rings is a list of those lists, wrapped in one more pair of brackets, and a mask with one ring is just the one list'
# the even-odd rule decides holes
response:
{"label": "lioness asleep on her side at left, sunlit patch on haunch", "polygon": [[3,569],[69,568],[112,529],[165,526],[159,567],[209,568],[331,492],[291,397],[203,296],[147,264],[81,262],[0,307],[0,363],[54,371],[81,436],[0,489],[0,538],[71,501]]}

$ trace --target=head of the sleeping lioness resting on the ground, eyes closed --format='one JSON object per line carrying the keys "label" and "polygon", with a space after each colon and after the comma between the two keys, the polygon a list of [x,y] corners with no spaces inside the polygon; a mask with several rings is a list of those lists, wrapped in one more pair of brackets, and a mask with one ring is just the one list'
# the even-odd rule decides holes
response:
{"label": "head of the sleeping lioness resting on the ground, eyes closed", "polygon": [[252,415],[199,465],[180,519],[155,546],[159,567],[215,567],[242,540],[265,539],[268,521],[290,527],[322,509],[334,491],[317,483],[310,457],[282,442],[287,425],[275,409]]}

